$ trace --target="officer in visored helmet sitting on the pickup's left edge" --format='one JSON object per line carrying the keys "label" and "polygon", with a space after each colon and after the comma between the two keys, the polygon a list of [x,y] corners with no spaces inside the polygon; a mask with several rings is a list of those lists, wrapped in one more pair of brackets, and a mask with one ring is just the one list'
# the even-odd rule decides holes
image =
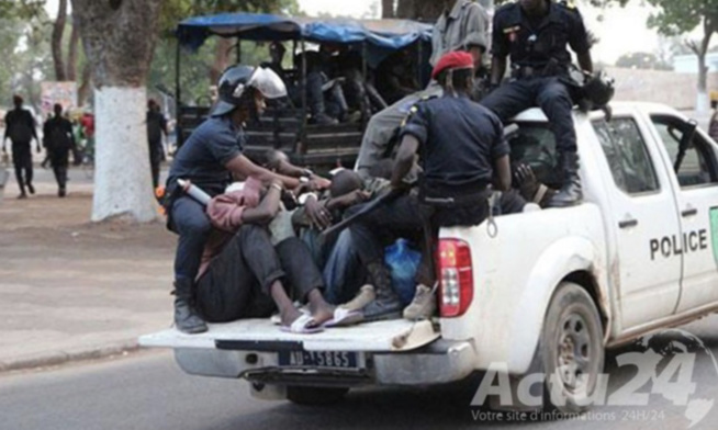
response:
{"label": "officer in visored helmet sitting on the pickup's left edge", "polygon": [[262,113],[265,99],[287,95],[281,78],[268,68],[239,65],[222,75],[217,88],[218,101],[211,116],[179,149],[167,180],[168,225],[179,234],[175,257],[175,325],[188,333],[207,329],[193,301],[211,224],[203,205],[183,194],[178,180],[189,180],[212,196],[224,192],[232,174],[256,178],[266,185],[276,184],[274,188],[293,189],[300,184],[296,178],[276,174],[242,154],[246,139],[243,124]]}

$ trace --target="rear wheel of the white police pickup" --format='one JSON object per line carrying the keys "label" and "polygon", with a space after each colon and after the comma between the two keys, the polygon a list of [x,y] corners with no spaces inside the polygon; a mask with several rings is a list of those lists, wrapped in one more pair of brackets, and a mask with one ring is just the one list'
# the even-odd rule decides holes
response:
{"label": "rear wheel of the white police pickup", "polygon": [[603,337],[601,315],[588,292],[562,282],[549,304],[540,347],[547,409],[581,414],[590,408],[585,400],[604,369]]}

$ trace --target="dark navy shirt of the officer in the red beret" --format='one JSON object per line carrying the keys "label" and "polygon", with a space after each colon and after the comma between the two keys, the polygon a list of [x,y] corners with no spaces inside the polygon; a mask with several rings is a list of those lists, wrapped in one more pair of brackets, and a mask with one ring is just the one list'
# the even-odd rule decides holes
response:
{"label": "dark navy shirt of the officer in the red beret", "polygon": [[498,117],[464,95],[417,103],[406,134],[420,143],[423,184],[433,189],[480,191],[492,181],[494,160],[509,152]]}

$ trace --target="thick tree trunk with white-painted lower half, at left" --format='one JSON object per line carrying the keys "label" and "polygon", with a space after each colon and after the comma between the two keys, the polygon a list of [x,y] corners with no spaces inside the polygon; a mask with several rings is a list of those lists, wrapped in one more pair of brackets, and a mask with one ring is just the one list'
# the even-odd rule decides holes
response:
{"label": "thick tree trunk with white-painted lower half, at left", "polygon": [[157,217],[145,124],[161,0],[72,0],[94,82],[92,220]]}

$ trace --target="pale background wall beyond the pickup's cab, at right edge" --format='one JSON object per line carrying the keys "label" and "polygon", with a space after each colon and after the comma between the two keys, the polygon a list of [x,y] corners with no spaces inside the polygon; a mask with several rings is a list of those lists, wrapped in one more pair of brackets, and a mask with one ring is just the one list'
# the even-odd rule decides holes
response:
{"label": "pale background wall beyond the pickup's cab, at right edge", "polygon": [[[667,104],[678,110],[696,105],[697,76],[662,70],[606,68],[615,79],[616,101],[646,101]],[[718,72],[708,75],[708,91],[718,90]]]}

